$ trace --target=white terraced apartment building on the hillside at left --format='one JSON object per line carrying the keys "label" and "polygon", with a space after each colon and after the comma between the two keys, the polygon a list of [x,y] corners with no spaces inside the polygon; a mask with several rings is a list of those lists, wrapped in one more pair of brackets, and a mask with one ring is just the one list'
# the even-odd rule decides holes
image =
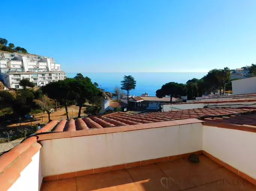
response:
{"label": "white terraced apartment building on the hillside at left", "polygon": [[36,86],[63,80],[65,72],[53,58],[35,54],[0,51],[0,79],[7,88],[21,88],[19,81],[29,79]]}

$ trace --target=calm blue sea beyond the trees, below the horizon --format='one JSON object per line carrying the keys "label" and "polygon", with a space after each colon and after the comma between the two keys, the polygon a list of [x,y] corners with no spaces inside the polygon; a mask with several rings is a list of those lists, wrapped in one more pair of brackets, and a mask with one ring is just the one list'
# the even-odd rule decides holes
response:
{"label": "calm blue sea beyond the trees, below the horizon", "polygon": [[[201,79],[207,72],[115,72],[101,73],[88,72],[82,73],[84,76],[91,78],[92,82],[97,82],[99,88],[114,93],[114,87],[121,87],[120,81],[124,75],[131,75],[136,80],[135,90],[131,90],[130,94],[139,96],[148,93],[149,96],[156,96],[156,90],[160,89],[163,84],[168,82],[186,83],[189,79]],[[74,78],[76,73],[66,73],[68,78]]]}

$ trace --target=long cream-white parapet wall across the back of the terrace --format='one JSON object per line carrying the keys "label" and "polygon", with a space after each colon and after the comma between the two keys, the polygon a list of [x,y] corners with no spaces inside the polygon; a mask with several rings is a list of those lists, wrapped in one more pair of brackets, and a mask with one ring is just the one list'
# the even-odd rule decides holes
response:
{"label": "long cream-white parapet wall across the back of the terrace", "polygon": [[[90,131],[90,130],[89,130]],[[41,141],[43,176],[202,150],[202,123]]]}

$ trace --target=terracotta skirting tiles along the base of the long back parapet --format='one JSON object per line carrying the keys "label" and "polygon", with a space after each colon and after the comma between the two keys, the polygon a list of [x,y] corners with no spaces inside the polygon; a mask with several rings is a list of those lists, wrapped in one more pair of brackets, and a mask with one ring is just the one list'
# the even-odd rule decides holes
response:
{"label": "terracotta skirting tiles along the base of the long back parapet", "polygon": [[118,164],[118,165],[113,165],[113,166],[100,167],[100,168],[96,168],[96,169],[87,169],[87,170],[80,170],[80,171],[76,171],[76,172],[69,172],[69,173],[58,174],[58,175],[50,175],[50,176],[43,177],[43,182],[66,179],[66,178],[73,178],[73,177],[78,177],[78,176],[85,176],[85,175],[90,175],[90,174],[97,174],[97,173],[102,173],[102,172],[109,172],[109,171],[114,171],[114,170],[128,169],[131,167],[149,165],[149,164],[160,163],[160,162],[167,162],[167,161],[171,161],[171,160],[182,159],[184,157],[189,157],[190,154],[198,154],[199,155],[202,153],[203,153],[203,151],[199,150],[199,151],[195,151],[192,153],[178,154],[175,156],[166,156],[166,157],[161,157],[161,158],[157,158],[157,159],[149,159],[149,160],[142,160],[142,161],[136,161],[136,162],[131,162],[131,163],[123,163],[123,164]]}

